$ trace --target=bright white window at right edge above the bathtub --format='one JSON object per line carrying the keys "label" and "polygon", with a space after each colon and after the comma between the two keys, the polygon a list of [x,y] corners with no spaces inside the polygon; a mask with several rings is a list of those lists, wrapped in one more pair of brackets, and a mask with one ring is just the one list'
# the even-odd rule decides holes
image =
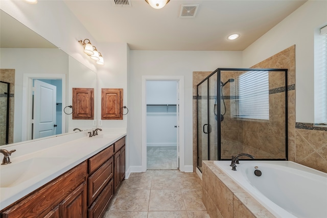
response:
{"label": "bright white window at right edge above the bathtub", "polygon": [[327,125],[327,26],[315,35],[315,125]]}

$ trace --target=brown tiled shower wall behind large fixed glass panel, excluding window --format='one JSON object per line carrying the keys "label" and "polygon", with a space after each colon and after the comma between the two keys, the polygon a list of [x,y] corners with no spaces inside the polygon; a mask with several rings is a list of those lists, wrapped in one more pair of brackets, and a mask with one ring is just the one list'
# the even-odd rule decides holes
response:
{"label": "brown tiled shower wall behind large fixed glass panel, excluding window", "polygon": [[[237,79],[244,71],[221,71],[221,81]],[[269,71],[269,119],[238,119],[237,83],[223,88],[226,112],[221,122],[221,157],[247,153],[258,159],[285,159],[285,72]]]}

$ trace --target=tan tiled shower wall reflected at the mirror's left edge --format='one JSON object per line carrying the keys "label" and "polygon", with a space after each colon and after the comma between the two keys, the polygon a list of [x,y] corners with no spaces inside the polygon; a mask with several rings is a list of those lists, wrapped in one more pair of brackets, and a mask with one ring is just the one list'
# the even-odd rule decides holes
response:
{"label": "tan tiled shower wall reflected at the mirror's left edge", "polygon": [[[9,140],[8,143],[13,143],[14,140],[14,90],[15,90],[15,70],[14,69],[0,69],[0,80],[10,83],[10,98],[9,98]],[[6,110],[5,106],[7,99],[1,97],[1,113],[0,113],[0,129],[1,129],[1,144],[6,141]]]}

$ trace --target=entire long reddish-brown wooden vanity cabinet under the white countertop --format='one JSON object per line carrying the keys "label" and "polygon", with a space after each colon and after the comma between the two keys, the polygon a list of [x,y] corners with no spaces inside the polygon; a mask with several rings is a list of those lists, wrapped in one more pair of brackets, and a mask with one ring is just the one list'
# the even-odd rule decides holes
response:
{"label": "entire long reddish-brown wooden vanity cabinet under the white countertop", "polygon": [[101,217],[125,179],[125,137],[1,211],[1,218]]}

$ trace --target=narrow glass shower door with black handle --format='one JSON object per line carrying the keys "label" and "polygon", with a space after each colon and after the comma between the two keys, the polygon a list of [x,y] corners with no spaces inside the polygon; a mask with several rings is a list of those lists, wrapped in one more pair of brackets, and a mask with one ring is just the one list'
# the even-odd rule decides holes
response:
{"label": "narrow glass shower door with black handle", "polygon": [[202,82],[197,89],[198,118],[198,168],[202,172],[202,160],[208,160],[208,83]]}

